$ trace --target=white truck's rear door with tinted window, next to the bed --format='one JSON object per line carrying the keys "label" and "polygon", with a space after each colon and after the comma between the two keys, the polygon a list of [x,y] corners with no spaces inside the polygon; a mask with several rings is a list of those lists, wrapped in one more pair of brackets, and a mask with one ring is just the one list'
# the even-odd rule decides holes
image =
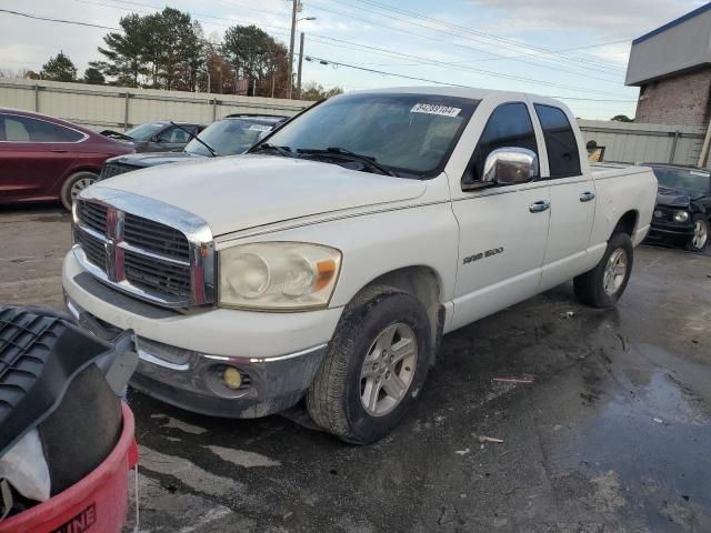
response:
{"label": "white truck's rear door with tinted window, next to the bed", "polygon": [[555,105],[534,103],[533,109],[543,132],[548,162],[543,179],[548,180],[551,194],[551,223],[541,279],[541,290],[545,290],[584,269],[597,198],[592,174],[582,170],[579,137],[571,125],[574,119]]}

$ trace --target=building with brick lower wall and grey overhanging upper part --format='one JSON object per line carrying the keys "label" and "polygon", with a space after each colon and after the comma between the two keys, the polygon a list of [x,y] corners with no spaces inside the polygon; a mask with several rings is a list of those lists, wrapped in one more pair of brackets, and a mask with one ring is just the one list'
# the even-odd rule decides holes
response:
{"label": "building with brick lower wall and grey overhanging upper part", "polygon": [[708,125],[711,3],[632,41],[625,84],[640,88],[637,122]]}

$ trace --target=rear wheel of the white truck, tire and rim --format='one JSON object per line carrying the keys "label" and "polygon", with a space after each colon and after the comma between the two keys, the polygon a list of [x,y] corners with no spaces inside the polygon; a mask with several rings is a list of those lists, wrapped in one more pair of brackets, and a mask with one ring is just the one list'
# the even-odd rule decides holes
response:
{"label": "rear wheel of the white truck, tire and rim", "polygon": [[578,299],[593,308],[612,308],[627,288],[634,249],[627,233],[614,233],[598,265],[573,280]]}

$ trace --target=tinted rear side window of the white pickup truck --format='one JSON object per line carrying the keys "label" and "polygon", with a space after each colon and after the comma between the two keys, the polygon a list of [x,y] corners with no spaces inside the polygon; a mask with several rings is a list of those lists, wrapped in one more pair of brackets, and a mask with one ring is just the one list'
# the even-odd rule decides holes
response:
{"label": "tinted rear side window of the white pickup truck", "polygon": [[551,178],[580,175],[578,140],[565,113],[551,105],[535,104],[534,108],[543,129]]}

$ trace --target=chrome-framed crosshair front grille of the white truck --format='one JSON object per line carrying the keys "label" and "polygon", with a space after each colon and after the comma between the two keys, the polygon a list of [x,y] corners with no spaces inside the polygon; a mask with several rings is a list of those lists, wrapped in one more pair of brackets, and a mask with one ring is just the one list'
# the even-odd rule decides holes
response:
{"label": "chrome-framed crosshair front grille of the white truck", "polygon": [[76,202],[73,237],[86,270],[121,291],[166,306],[214,301],[212,235],[190,213],[96,185]]}

